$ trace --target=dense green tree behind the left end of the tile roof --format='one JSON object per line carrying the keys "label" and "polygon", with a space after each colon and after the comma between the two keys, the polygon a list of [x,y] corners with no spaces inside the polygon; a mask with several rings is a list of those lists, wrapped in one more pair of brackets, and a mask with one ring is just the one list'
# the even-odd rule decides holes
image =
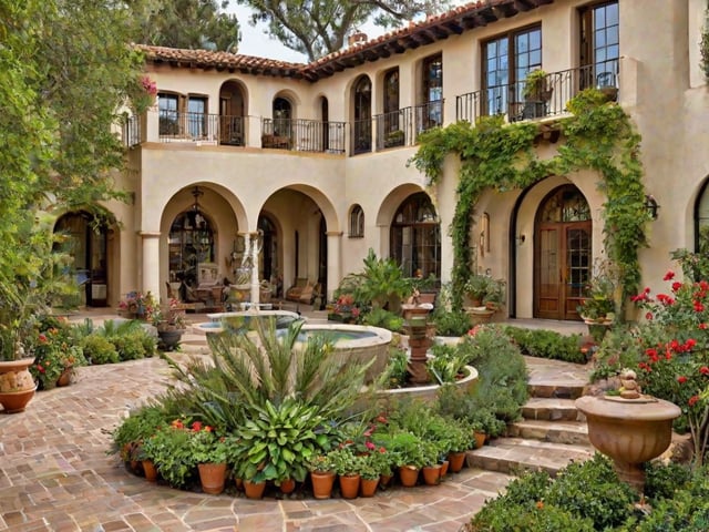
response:
{"label": "dense green tree behind the left end of the tile roof", "polygon": [[239,23],[222,12],[228,0],[153,0],[133,6],[141,20],[135,41],[169,48],[215,49],[236,52]]}

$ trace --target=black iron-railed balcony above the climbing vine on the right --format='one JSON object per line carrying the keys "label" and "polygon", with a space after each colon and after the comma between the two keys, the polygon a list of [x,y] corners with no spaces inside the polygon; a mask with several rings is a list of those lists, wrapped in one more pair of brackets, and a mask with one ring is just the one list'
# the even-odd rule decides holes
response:
{"label": "black iron-railed balcony above the climbing vine on the right", "polygon": [[545,90],[526,98],[524,81],[462,94],[455,98],[455,119],[474,124],[479,117],[494,114],[504,115],[507,122],[556,116],[566,113],[566,102],[589,86],[617,100],[618,60],[552,72],[546,75]]}

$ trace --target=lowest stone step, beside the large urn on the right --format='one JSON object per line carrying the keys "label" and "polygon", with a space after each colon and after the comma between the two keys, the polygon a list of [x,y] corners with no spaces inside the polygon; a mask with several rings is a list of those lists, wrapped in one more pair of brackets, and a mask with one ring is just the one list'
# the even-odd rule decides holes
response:
{"label": "lowest stone step, beside the large urn on the right", "polygon": [[594,456],[590,446],[571,446],[548,441],[521,438],[497,438],[467,451],[466,461],[471,468],[516,474],[520,471],[544,470],[555,475],[571,461],[584,461]]}

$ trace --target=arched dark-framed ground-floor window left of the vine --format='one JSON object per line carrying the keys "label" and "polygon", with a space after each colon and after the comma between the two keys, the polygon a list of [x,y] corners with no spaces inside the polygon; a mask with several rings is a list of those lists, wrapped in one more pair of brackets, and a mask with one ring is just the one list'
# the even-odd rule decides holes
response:
{"label": "arched dark-framed ground-floor window left of the vine", "polygon": [[441,225],[423,192],[412,194],[399,207],[391,224],[391,257],[401,265],[404,275],[413,277],[421,270],[441,278]]}

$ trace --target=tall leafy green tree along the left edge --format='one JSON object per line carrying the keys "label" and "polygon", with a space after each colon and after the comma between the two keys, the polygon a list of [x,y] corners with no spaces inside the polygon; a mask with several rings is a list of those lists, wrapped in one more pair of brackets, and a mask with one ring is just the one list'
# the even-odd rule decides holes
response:
{"label": "tall leafy green tree along the left edge", "polygon": [[134,31],[120,0],[0,0],[0,359],[12,357],[28,303],[50,289],[42,211],[122,197],[114,131],[142,89]]}

